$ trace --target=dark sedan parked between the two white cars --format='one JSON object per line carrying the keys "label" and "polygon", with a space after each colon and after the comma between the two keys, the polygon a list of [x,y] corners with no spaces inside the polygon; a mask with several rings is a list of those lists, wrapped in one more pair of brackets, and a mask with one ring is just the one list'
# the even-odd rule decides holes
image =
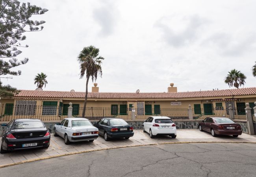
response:
{"label": "dark sedan parked between the two white cars", "polygon": [[104,136],[106,141],[109,138],[126,138],[134,136],[133,127],[121,118],[103,118],[93,126],[99,129],[99,135]]}

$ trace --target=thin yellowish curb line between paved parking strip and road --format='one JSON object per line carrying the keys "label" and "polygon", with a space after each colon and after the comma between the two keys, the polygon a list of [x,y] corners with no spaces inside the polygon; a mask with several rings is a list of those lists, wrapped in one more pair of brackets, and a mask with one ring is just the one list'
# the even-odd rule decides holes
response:
{"label": "thin yellowish curb line between paved parking strip and road", "polygon": [[92,149],[92,150],[88,150],[88,151],[71,152],[71,153],[53,155],[53,156],[49,156],[49,157],[37,158],[37,159],[32,159],[32,160],[24,160],[21,162],[15,162],[15,163],[11,163],[11,164],[1,165],[0,168],[24,164],[24,163],[28,163],[28,162],[35,162],[38,160],[52,159],[55,157],[63,157],[63,156],[67,156],[67,155],[89,153],[89,152],[102,151],[102,150],[108,150],[108,149],[119,149],[119,148],[125,148],[125,147],[139,147],[139,146],[152,146],[152,145],[161,145],[161,144],[187,144],[187,143],[248,143],[248,144],[256,144],[256,142],[217,142],[217,141],[216,142],[206,142],[206,141],[204,141],[204,142],[165,142],[165,143],[152,143],[152,144],[141,144],[141,145],[132,145],[132,146],[117,146],[117,147],[109,147],[109,148],[102,148],[102,149]]}

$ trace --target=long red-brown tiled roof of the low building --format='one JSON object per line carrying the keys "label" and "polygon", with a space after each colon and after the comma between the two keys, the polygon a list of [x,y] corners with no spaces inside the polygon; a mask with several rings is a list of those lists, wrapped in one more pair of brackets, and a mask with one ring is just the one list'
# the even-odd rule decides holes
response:
{"label": "long red-brown tiled roof of the low building", "polygon": [[[243,89],[226,89],[193,92],[152,92],[152,93],[123,93],[123,92],[88,92],[88,98],[201,98],[219,96],[255,95],[256,87]],[[63,91],[36,91],[21,90],[15,98],[84,98],[85,92],[63,92]]]}

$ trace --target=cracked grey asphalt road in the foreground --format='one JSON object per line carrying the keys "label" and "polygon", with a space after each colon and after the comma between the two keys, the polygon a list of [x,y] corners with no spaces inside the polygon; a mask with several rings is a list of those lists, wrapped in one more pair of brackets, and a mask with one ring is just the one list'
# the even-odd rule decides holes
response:
{"label": "cracked grey asphalt road in the foreground", "polygon": [[110,149],[0,169],[0,176],[256,176],[256,144],[166,144]]}

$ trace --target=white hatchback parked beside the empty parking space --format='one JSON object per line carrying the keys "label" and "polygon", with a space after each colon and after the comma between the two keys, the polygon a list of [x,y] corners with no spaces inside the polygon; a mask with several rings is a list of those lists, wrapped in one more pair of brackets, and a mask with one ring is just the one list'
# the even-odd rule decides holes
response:
{"label": "white hatchback parked beside the empty parking space", "polygon": [[143,123],[143,132],[148,132],[150,138],[156,135],[169,135],[176,138],[176,125],[169,117],[152,116]]}

